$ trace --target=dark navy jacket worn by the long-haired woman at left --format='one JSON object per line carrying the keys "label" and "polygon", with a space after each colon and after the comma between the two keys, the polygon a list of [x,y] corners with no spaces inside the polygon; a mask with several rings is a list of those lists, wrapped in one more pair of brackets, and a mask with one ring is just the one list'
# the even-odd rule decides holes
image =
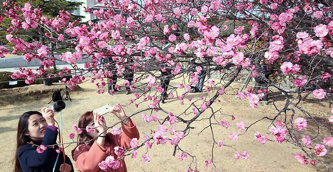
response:
{"label": "dark navy jacket worn by the long-haired woman at left", "polygon": [[[54,145],[56,144],[58,136],[57,130],[52,130],[47,127],[44,139],[41,142],[42,145]],[[40,145],[38,143],[35,143]],[[31,146],[30,144],[23,145],[18,150],[18,158],[23,172],[26,171],[35,171],[35,172],[52,172],[54,163],[57,159],[58,153],[56,152],[56,148],[48,147],[43,153],[37,153],[36,146]],[[60,165],[63,163],[63,153],[61,152],[59,155],[59,159],[55,168],[55,171],[59,171]],[[74,171],[72,162],[66,156],[66,163],[72,166],[72,170]]]}

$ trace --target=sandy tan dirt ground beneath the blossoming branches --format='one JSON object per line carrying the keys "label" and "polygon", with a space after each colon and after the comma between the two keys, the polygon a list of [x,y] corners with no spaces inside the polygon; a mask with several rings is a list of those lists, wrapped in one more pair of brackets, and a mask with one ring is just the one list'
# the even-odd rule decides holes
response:
{"label": "sandy tan dirt ground beneath the blossoming branches", "polygon": [[[176,85],[178,81],[172,81],[171,85]],[[50,101],[51,92],[54,89],[63,88],[64,85],[56,84],[50,87],[45,87],[44,85],[29,85],[27,87],[14,90],[3,90],[0,91],[0,137],[3,141],[0,142],[0,148],[2,152],[2,158],[0,159],[0,171],[12,171],[13,164],[12,160],[15,154],[16,145],[16,130],[19,116],[25,111],[37,110],[39,111],[41,107],[48,106]],[[237,89],[237,85],[233,85],[234,90]],[[255,122],[256,120],[262,118],[263,116],[273,116],[276,114],[276,110],[272,103],[269,105],[264,105],[262,102],[259,107],[253,109],[248,105],[247,100],[237,100],[236,96],[232,95],[235,91],[227,90],[227,95],[223,95],[219,98],[221,102],[216,102],[213,104],[214,109],[221,108],[224,114],[231,114],[236,117],[235,120],[231,120],[230,116],[217,114],[216,118],[220,120],[230,121],[231,126],[226,129],[224,127],[215,125],[214,137],[216,140],[223,140],[226,145],[231,145],[232,147],[216,147],[214,148],[214,162],[218,169],[221,171],[324,171],[324,168],[320,164],[316,166],[302,165],[295,158],[294,153],[300,152],[295,146],[289,143],[277,144],[275,142],[268,142],[265,145],[260,145],[258,141],[255,140],[255,132],[260,132],[268,136],[269,139],[274,140],[271,135],[268,135],[270,122],[263,120],[256,123],[254,126],[249,128],[249,130],[242,136],[239,136],[236,142],[230,141],[228,138],[229,133],[235,132],[237,134],[242,134],[242,131],[236,130],[236,123],[240,120],[245,121],[246,124]],[[201,94],[208,94],[203,92]],[[199,99],[199,93],[192,94],[193,100]],[[211,93],[210,93],[211,94]],[[46,96],[47,97],[46,97]],[[89,110],[93,110],[106,103],[116,104],[120,103],[122,105],[127,105],[129,99],[134,99],[133,95],[125,95],[124,91],[116,94],[115,96],[109,96],[108,94],[98,95],[96,93],[95,85],[89,82],[80,84],[80,89],[72,91],[70,93],[72,102],[66,102],[66,108],[63,110],[63,130],[64,136],[67,136],[68,132],[73,132],[72,124],[77,123],[79,116]],[[279,100],[281,96],[277,96],[277,106],[282,107],[283,102]],[[192,102],[193,102],[192,100]],[[183,112],[185,108],[188,107],[190,102],[188,100],[184,101],[185,105],[180,105],[176,98],[167,100],[165,104],[161,104],[162,108],[165,110],[172,111],[175,114]],[[134,105],[125,106],[127,114],[130,115],[138,110],[147,108],[148,103],[142,103],[139,108],[136,109]],[[327,104],[320,103],[311,98],[307,97],[305,103],[302,103],[306,110],[310,113],[315,114],[319,118],[326,118],[330,115],[329,108]],[[147,112],[148,113],[148,112]],[[162,113],[154,112],[153,114]],[[297,115],[300,114],[297,111]],[[184,116],[184,115],[183,115]],[[210,113],[207,112],[202,114],[202,118],[209,117]],[[111,124],[116,122],[115,116],[109,115],[105,116],[106,122]],[[185,116],[185,118],[190,118],[192,115]],[[318,119],[319,119],[318,118]],[[136,122],[139,129],[141,138],[139,141],[142,142],[142,137],[144,134],[150,134],[150,130],[156,130],[158,127],[158,122],[146,123],[140,115],[132,117]],[[295,118],[294,118],[295,119]],[[56,115],[56,120],[59,120],[59,114]],[[206,167],[204,165],[205,160],[210,160],[212,156],[212,134],[211,130],[208,128],[204,130],[201,134],[197,135],[203,127],[207,126],[207,121],[195,121],[193,127],[195,127],[190,132],[190,136],[187,136],[184,140],[180,142],[180,147],[196,156],[196,165],[200,171],[209,171],[214,169],[213,166]],[[312,126],[309,121],[309,129],[307,131],[302,131],[301,134],[310,134],[314,136],[316,133],[316,126]],[[170,126],[166,124],[168,128]],[[181,129],[180,126],[175,127]],[[330,136],[327,131],[320,133],[322,136]],[[168,136],[170,136],[168,132]],[[70,142],[66,137],[65,142]],[[317,138],[317,142],[321,142],[322,138]],[[312,144],[315,145],[313,142]],[[215,145],[217,146],[217,145]],[[69,146],[66,149],[66,153],[70,154],[74,145]],[[136,159],[126,158],[126,163],[128,166],[128,171],[185,171],[191,164],[191,157],[184,161],[178,159],[178,154],[172,156],[174,147],[167,143],[166,145],[156,145],[153,144],[152,149],[148,150],[148,154],[151,158],[150,162],[142,162],[142,154],[146,153],[146,149],[140,149],[138,157]],[[325,158],[326,163],[332,164],[333,159],[333,149],[327,147],[327,154]],[[235,150],[239,152],[247,151],[249,153],[249,158],[247,160],[235,159]],[[310,151],[313,152],[313,151]],[[312,155],[314,155],[312,153]],[[315,155],[314,155],[315,156]],[[321,158],[323,159],[323,158]],[[75,164],[75,162],[73,162]],[[195,167],[193,162],[192,167]],[[77,170],[75,170],[77,171]]]}

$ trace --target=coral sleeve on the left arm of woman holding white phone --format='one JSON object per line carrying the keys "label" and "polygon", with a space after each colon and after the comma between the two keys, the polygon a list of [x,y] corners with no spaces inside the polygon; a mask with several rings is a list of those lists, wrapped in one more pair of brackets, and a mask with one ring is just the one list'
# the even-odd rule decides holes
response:
{"label": "coral sleeve on the left arm of woman holding white phone", "polygon": [[74,153],[75,166],[80,171],[96,172],[99,170],[98,163],[105,160],[107,152],[101,150],[96,141],[92,146],[80,145]]}

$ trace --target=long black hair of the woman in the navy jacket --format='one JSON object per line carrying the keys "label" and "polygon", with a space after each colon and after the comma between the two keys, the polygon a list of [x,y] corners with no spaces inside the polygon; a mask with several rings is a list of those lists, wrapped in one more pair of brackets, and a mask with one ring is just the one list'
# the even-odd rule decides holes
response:
{"label": "long black hair of the woman in the navy jacket", "polygon": [[14,171],[15,172],[22,172],[22,168],[18,159],[18,150],[21,146],[27,144],[28,142],[32,141],[28,136],[25,136],[24,134],[29,132],[28,131],[28,119],[31,115],[40,115],[43,116],[40,112],[38,111],[28,111],[23,113],[19,119],[19,123],[17,125],[17,136],[16,136],[16,153],[14,160],[15,161],[15,166],[14,166]]}

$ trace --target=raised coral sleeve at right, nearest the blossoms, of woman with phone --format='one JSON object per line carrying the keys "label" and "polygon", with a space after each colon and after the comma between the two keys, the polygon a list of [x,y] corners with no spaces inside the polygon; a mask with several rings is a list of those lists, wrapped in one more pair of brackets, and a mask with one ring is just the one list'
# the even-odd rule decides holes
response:
{"label": "raised coral sleeve at right, nearest the blossoms, of woman with phone", "polygon": [[121,124],[122,133],[116,136],[119,145],[124,149],[131,148],[130,142],[133,138],[137,138],[138,140],[140,138],[140,134],[137,126],[135,125],[135,122],[130,118],[127,124],[130,124],[130,126]]}

